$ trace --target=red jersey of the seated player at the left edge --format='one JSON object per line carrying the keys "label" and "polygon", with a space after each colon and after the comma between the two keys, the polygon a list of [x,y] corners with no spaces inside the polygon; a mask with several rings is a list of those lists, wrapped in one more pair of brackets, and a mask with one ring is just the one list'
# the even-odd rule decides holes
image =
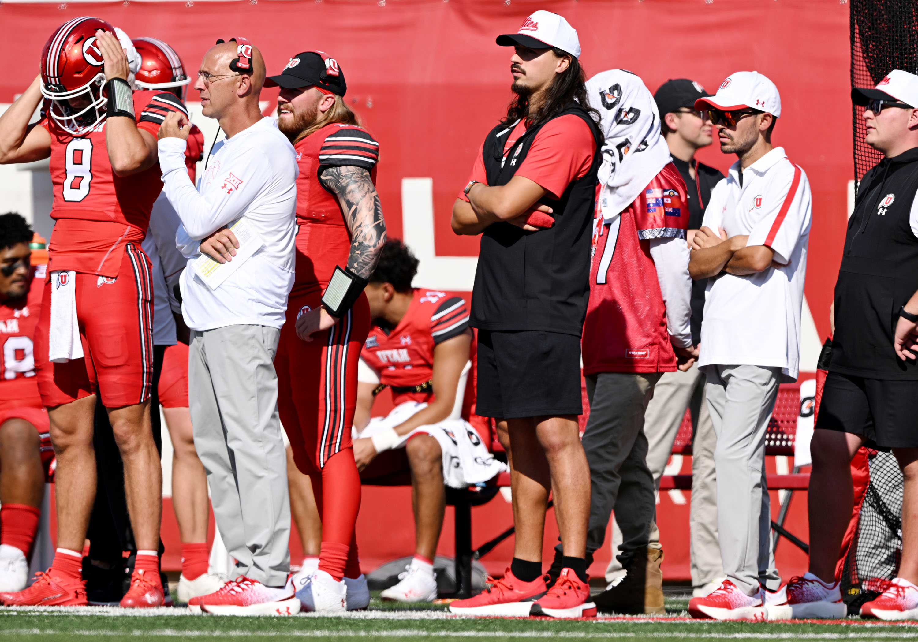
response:
{"label": "red jersey of the seated player at the left edge", "polygon": [[42,408],[32,336],[39,322],[45,265],[32,271],[28,295],[0,304],[0,411]]}

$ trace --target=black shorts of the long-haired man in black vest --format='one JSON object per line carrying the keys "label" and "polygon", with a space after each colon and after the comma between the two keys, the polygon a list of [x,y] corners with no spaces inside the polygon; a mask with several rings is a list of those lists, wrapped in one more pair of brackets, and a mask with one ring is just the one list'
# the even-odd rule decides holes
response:
{"label": "black shorts of the long-haired man in black vest", "polygon": [[475,408],[497,419],[582,414],[580,337],[479,330]]}

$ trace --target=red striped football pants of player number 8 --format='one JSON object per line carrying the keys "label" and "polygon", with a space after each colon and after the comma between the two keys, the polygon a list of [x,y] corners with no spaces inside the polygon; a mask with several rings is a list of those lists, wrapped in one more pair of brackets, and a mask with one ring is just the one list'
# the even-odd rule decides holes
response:
{"label": "red striped football pants of player number 8", "polygon": [[106,408],[150,399],[153,384],[153,279],[150,259],[128,243],[116,278],[76,273],[76,316],[84,358],[48,359],[51,281],[35,328],[35,370],[48,408],[95,392]]}

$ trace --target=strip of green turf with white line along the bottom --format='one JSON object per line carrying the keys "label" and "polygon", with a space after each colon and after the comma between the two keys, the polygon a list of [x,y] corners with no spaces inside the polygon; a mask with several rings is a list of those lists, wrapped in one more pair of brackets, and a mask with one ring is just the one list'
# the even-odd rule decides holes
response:
{"label": "strip of green turf with white line along the bottom", "polygon": [[[466,619],[448,615],[442,607],[392,608],[374,599],[370,610],[346,617],[217,617],[188,615],[182,609],[155,609],[124,615],[119,609],[67,610],[0,609],[0,638],[4,640],[85,640],[138,638],[143,640],[237,639],[295,640],[511,640],[624,638],[629,640],[912,640],[918,623],[890,625],[851,618],[836,623],[715,623],[693,622],[681,600],[667,600],[659,618],[596,618],[584,621],[548,619]],[[62,612],[63,611],[63,612]]]}

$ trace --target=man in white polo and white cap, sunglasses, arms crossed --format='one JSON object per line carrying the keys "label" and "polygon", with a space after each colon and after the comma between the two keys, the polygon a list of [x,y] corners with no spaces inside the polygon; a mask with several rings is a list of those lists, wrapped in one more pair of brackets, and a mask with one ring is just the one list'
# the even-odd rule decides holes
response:
{"label": "man in white polo and white cap, sunglasses, arms crossed", "polygon": [[[689,273],[710,278],[699,367],[717,434],[718,529],[726,580],[689,614],[765,619],[783,602],[765,590],[770,512],[765,433],[778,384],[795,381],[800,309],[810,235],[810,185],[784,149],[772,147],[781,114],[778,88],[756,72],[733,73],[716,96],[700,98],[721,151],[739,160],[711,191],[692,241]],[[776,578],[770,578],[775,580]]]}

